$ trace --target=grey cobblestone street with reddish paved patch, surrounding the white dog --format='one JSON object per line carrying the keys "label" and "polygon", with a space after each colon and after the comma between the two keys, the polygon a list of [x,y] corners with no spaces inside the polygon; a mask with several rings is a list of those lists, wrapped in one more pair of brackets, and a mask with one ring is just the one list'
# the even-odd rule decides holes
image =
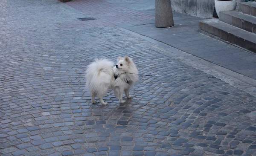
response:
{"label": "grey cobblestone street with reddish paved patch, surrounding the white dog", "polygon": [[[0,0],[0,155],[256,156],[256,98],[116,26],[140,20],[104,0]],[[92,104],[86,66],[124,55],[153,76]]]}

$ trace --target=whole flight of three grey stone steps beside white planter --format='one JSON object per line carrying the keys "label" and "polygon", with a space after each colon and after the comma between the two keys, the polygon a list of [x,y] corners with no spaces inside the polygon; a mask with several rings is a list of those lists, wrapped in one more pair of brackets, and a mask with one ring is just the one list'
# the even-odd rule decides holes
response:
{"label": "whole flight of three grey stone steps beside white planter", "polygon": [[256,2],[242,2],[239,11],[220,12],[219,19],[199,21],[199,32],[256,52]]}

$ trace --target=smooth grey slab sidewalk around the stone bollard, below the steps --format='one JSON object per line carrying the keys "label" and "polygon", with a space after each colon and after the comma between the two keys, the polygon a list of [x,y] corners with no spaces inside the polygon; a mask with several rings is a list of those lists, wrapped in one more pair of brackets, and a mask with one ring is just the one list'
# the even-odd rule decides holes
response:
{"label": "smooth grey slab sidewalk around the stone bollard, below the steps", "polygon": [[[154,9],[141,12],[154,16]],[[256,79],[256,54],[198,33],[201,18],[173,12],[175,26],[156,28],[154,20],[119,24],[206,61]]]}

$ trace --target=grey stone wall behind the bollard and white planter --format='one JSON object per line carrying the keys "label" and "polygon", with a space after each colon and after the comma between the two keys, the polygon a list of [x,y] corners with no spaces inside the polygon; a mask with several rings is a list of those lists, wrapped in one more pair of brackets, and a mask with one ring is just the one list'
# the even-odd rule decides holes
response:
{"label": "grey stone wall behind the bollard and white planter", "polygon": [[[239,3],[244,0],[236,1]],[[212,18],[214,0],[172,0],[172,10],[195,17]]]}

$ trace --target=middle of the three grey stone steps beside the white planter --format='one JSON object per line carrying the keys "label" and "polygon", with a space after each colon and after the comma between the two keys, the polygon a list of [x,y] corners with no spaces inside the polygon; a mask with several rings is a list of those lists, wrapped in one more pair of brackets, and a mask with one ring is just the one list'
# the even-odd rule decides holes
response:
{"label": "middle of the three grey stone steps beside the white planter", "polygon": [[244,14],[237,10],[220,12],[219,20],[248,32],[256,33],[256,17]]}

